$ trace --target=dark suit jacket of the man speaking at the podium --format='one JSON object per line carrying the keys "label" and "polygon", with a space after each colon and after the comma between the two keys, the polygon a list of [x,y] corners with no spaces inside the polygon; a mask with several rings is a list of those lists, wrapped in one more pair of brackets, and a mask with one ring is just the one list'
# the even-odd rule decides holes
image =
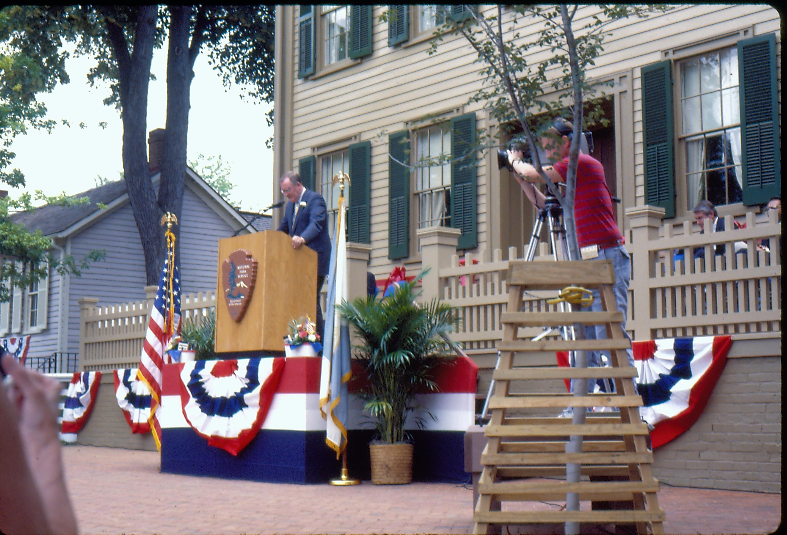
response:
{"label": "dark suit jacket of the man speaking at the podium", "polygon": [[305,202],[306,206],[297,211],[294,225],[295,203],[287,203],[279,230],[306,240],[306,245],[317,253],[317,275],[327,275],[331,263],[331,238],[328,236],[325,200],[320,193],[307,189],[301,202]]}

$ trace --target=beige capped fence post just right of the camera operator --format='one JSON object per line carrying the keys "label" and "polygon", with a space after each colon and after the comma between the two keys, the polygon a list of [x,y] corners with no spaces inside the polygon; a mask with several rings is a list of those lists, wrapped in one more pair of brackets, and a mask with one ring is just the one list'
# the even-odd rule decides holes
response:
{"label": "beige capped fence post just right of the camera operator", "polygon": [[648,281],[655,277],[655,258],[648,251],[648,242],[659,239],[659,227],[664,218],[662,207],[645,206],[628,208],[626,216],[629,218],[631,229],[631,252],[634,256],[631,268],[631,295],[634,301],[632,308],[629,302],[630,317],[634,321],[626,329],[633,331],[635,340],[651,339],[648,323],[651,314],[650,287]]}

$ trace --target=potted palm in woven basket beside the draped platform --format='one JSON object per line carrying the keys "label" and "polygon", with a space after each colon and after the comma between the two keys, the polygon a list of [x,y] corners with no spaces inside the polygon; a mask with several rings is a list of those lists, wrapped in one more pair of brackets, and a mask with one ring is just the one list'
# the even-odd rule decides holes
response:
{"label": "potted palm in woven basket beside the draped platform", "polygon": [[405,425],[412,418],[423,427],[423,419],[413,414],[419,409],[416,394],[438,389],[431,372],[451,358],[442,335],[453,329],[456,308],[438,299],[416,304],[420,294],[416,281],[423,273],[399,284],[385,299],[358,298],[339,308],[360,339],[353,348],[367,376],[360,392],[364,410],[371,414],[377,431],[370,443],[375,485],[412,481],[412,438]]}

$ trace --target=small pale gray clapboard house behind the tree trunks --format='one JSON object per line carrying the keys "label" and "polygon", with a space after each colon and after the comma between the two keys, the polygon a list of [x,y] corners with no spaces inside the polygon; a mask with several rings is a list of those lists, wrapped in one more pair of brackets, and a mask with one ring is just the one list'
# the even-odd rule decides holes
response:
{"label": "small pale gray clapboard house behind the tree trunks", "polygon": [[[153,175],[154,185],[160,176]],[[79,196],[89,197],[91,203],[80,207],[46,205],[12,218],[13,222],[50,236],[56,256],[71,254],[79,262],[90,251],[106,251],[105,260],[91,264],[81,277],[61,277],[50,269],[45,280],[29,288],[14,288],[11,302],[0,305],[0,336],[31,335],[28,359],[54,355],[52,361],[57,365],[47,366],[47,371],[52,372],[76,370],[77,299],[98,298],[100,305],[145,299],[145,260],[126,182],[110,182]],[[98,208],[97,203],[106,204],[107,209]],[[270,228],[270,216],[252,222],[256,215],[235,210],[194,170],[188,169],[180,221],[183,293],[216,290],[218,240],[238,230],[249,233]]]}

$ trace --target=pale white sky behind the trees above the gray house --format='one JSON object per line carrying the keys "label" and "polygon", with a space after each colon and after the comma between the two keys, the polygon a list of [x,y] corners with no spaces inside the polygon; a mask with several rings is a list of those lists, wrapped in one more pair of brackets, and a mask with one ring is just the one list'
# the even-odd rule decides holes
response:
{"label": "pale white sky behind the trees above the gray house", "polygon": [[[28,130],[13,142],[11,150],[17,157],[12,168],[24,173],[27,185],[10,189],[11,196],[36,189],[48,195],[64,190],[74,194],[94,188],[97,175],[109,180],[120,178],[123,124],[114,106],[103,104],[109,86],[91,88],[87,84],[87,71],[93,64],[90,57],[69,58],[66,69],[71,82],[39,96],[49,110],[47,119],[57,120],[58,126],[52,134]],[[161,49],[153,51],[151,71],[157,80],[150,82],[149,132],[166,125],[166,68],[164,42]],[[272,136],[273,127],[264,117],[272,104],[253,104],[248,97],[241,100],[240,94],[241,89],[235,85],[225,91],[203,51],[194,64],[191,82],[187,159],[195,159],[198,153],[222,156],[231,163],[229,180],[235,184],[229,200],[240,202],[243,210],[257,211],[272,202],[273,150],[265,147],[265,140]],[[68,119],[72,126],[62,125],[61,119]],[[102,121],[107,123],[105,129],[98,126]],[[80,122],[87,123],[87,128],[80,129]]]}

